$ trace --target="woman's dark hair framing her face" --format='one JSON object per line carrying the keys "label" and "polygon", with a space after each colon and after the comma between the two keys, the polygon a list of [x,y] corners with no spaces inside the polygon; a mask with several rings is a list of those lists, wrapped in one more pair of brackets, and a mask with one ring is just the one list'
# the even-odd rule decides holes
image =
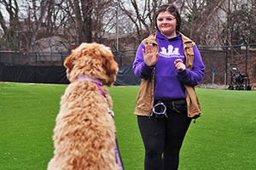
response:
{"label": "woman's dark hair framing her face", "polygon": [[156,29],[158,31],[159,28],[157,26],[157,17],[160,13],[163,13],[163,12],[166,12],[166,11],[169,11],[173,16],[175,16],[176,20],[177,20],[177,26],[176,26],[176,31],[180,31],[180,25],[181,25],[181,17],[180,17],[180,14],[178,12],[178,9],[175,5],[173,4],[165,4],[165,5],[161,5],[160,8],[158,8],[156,10],[156,13],[155,13],[155,18],[154,18],[154,22],[155,22],[155,26],[156,26]]}

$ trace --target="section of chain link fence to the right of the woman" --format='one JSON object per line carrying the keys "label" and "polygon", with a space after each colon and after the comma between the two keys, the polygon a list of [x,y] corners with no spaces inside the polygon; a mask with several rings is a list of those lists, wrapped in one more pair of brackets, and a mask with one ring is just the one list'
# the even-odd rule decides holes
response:
{"label": "section of chain link fence to the right of the woman", "polygon": [[[201,46],[201,57],[206,65],[202,83],[238,86],[256,83],[256,44],[211,47]],[[239,76],[242,80],[238,80]]]}

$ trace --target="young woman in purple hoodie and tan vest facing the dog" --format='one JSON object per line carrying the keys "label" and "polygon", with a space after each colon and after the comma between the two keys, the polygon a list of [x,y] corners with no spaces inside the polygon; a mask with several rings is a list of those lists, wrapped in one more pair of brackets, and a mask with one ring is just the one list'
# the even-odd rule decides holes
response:
{"label": "young woman in purple hoodie and tan vest facing the dog", "polygon": [[141,42],[133,63],[142,78],[135,114],[145,147],[144,169],[177,170],[191,119],[201,116],[194,87],[205,66],[195,42],[180,32],[174,5],[160,6],[155,22],[157,31]]}

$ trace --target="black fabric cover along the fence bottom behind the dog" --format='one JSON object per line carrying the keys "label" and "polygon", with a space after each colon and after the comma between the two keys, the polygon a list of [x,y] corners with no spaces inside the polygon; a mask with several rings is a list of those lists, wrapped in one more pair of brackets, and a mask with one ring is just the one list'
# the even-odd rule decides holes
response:
{"label": "black fabric cover along the fence bottom behind the dog", "polygon": [[[0,63],[0,81],[68,84],[64,66],[10,65]],[[121,66],[114,85],[139,85],[132,66]]]}

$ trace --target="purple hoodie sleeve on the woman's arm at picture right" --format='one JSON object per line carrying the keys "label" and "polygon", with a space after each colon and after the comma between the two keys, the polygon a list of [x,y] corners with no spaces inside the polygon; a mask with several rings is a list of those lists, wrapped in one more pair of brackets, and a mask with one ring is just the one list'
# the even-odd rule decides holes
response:
{"label": "purple hoodie sleeve on the woman's arm at picture right", "polygon": [[205,65],[202,62],[201,54],[197,46],[193,48],[194,62],[192,70],[186,69],[182,72],[177,72],[177,77],[180,82],[189,86],[196,86],[201,83],[205,73]]}

